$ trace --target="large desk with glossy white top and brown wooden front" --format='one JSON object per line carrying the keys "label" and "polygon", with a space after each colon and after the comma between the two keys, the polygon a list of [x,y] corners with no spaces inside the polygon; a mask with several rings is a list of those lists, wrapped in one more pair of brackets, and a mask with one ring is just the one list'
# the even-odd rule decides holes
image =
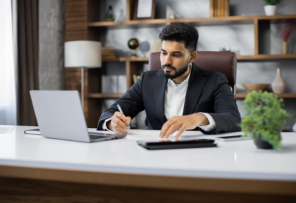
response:
{"label": "large desk with glossy white top and brown wooden front", "polygon": [[[75,183],[81,187],[111,187],[110,190],[115,187],[125,195],[112,194],[112,198],[127,202],[133,202],[129,199],[131,195],[141,202],[141,193],[147,196],[160,191],[168,202],[176,200],[175,195],[181,197],[184,191],[186,195],[182,198],[188,201],[210,195],[217,202],[226,194],[237,198],[250,198],[252,194],[257,200],[271,197],[271,201],[277,197],[296,198],[296,133],[293,132],[282,133],[281,151],[257,149],[252,140],[219,142],[216,148],[146,150],[136,140],[126,138],[81,143],[24,133],[34,128],[15,126],[12,133],[0,134],[0,202],[3,194],[12,198],[3,185],[13,186],[16,180],[18,184],[37,181],[30,182],[36,188],[49,182],[59,186]],[[137,133],[141,130],[129,132]],[[138,196],[133,194],[135,188]],[[146,196],[147,201],[151,198],[153,202],[165,202],[153,195]],[[24,200],[22,195],[18,198]],[[104,198],[109,201],[111,197]]]}

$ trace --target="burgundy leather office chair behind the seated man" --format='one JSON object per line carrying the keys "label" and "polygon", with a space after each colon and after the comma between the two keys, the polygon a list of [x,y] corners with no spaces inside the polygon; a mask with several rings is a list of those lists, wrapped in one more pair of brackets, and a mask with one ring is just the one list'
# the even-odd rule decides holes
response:
{"label": "burgundy leather office chair behind the seated man", "polygon": [[[225,74],[235,97],[235,83],[237,77],[237,55],[235,53],[227,51],[197,51],[197,58],[193,63],[202,69]],[[160,68],[160,52],[151,53],[149,56],[149,71],[159,70]],[[145,125],[148,126],[146,114],[144,119]],[[145,130],[147,129],[148,127],[145,128]]]}

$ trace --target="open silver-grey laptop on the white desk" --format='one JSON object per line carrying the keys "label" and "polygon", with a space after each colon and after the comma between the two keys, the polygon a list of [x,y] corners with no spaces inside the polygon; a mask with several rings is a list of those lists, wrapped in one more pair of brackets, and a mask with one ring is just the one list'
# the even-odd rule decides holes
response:
{"label": "open silver-grey laptop on the white desk", "polygon": [[31,90],[30,96],[43,137],[90,143],[127,135],[127,132],[88,132],[76,90]]}

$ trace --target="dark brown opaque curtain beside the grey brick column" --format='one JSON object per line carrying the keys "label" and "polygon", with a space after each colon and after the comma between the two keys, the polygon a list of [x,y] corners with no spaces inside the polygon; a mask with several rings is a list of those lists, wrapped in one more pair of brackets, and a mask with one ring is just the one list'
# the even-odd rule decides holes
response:
{"label": "dark brown opaque curtain beside the grey brick column", "polygon": [[38,90],[38,0],[16,0],[17,125],[37,126],[30,90]]}

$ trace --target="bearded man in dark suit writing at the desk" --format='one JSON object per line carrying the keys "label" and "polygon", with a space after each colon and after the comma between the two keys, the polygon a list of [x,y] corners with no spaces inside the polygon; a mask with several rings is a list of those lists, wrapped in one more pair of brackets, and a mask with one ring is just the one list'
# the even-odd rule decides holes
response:
{"label": "bearded man in dark suit writing at the desk", "polygon": [[[97,130],[125,132],[131,118],[146,110],[149,130],[168,138],[179,130],[205,134],[240,131],[241,117],[224,74],[203,70],[192,63],[197,57],[196,28],[190,24],[166,25],[162,41],[161,70],[146,71],[99,119]],[[120,104],[123,113],[117,108]]]}

